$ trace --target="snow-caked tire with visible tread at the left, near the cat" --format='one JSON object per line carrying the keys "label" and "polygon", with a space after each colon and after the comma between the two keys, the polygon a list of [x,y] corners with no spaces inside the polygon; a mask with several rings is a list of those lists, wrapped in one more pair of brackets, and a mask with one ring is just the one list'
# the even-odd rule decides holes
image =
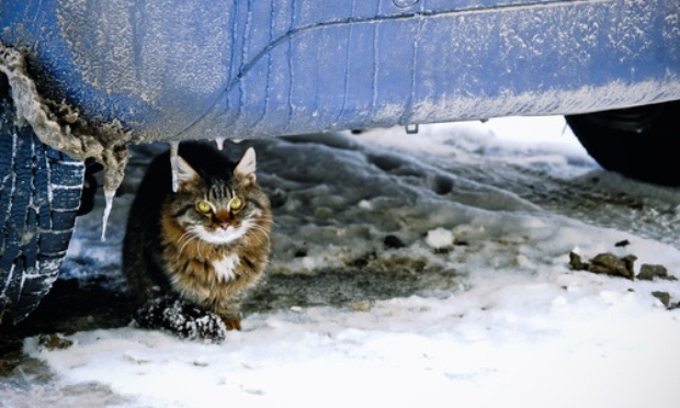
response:
{"label": "snow-caked tire with visible tread at the left, near the cat", "polygon": [[80,206],[84,167],[16,124],[0,75],[0,324],[33,311],[57,279]]}

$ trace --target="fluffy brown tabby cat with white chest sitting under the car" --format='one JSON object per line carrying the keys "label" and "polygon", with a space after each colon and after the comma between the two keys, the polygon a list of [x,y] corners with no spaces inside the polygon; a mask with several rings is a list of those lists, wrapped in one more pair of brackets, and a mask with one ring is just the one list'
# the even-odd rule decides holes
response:
{"label": "fluffy brown tabby cat with white chest sitting under the car", "polygon": [[261,281],[270,252],[270,202],[256,182],[254,150],[236,166],[204,144],[182,144],[179,156],[177,192],[169,154],[151,162],[139,185],[124,274],[140,303],[185,302],[240,329],[240,302]]}

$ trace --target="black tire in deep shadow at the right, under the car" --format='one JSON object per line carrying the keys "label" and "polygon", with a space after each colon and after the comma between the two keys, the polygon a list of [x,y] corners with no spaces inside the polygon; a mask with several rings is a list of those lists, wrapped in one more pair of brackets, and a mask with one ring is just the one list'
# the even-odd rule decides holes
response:
{"label": "black tire in deep shadow at the right, under the car", "polygon": [[680,186],[680,101],[566,120],[603,168],[649,183]]}

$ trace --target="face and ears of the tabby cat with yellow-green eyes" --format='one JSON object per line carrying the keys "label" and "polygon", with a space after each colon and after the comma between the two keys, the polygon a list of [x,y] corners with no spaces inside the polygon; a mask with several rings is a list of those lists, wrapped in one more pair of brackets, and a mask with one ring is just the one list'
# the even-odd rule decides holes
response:
{"label": "face and ears of the tabby cat with yellow-green eyes", "polygon": [[179,190],[170,209],[185,240],[200,239],[215,245],[233,243],[261,224],[269,213],[269,201],[256,184],[256,157],[248,149],[233,174],[206,177],[186,161],[179,160]]}

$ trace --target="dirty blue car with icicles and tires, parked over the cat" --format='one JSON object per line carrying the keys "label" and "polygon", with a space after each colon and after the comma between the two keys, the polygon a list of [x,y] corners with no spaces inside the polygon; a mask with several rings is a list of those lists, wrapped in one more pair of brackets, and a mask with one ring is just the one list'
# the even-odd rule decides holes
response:
{"label": "dirty blue car with icicles and tires, parked over the cat", "polygon": [[57,277],[84,163],[112,194],[131,144],[562,114],[680,185],[679,100],[676,0],[0,0],[0,321]]}

